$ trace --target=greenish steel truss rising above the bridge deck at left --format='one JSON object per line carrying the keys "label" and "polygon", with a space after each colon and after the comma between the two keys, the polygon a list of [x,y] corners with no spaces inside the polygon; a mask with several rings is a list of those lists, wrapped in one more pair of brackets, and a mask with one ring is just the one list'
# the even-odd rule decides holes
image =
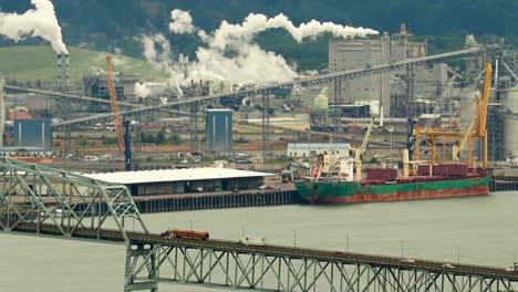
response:
{"label": "greenish steel truss rising above the bridge deck at left", "polygon": [[21,160],[0,158],[0,229],[13,231],[35,225],[30,233],[58,230],[52,236],[72,238],[79,229],[116,228],[128,240],[125,219],[136,220],[147,232],[139,211],[123,185],[95,180],[74,173]]}

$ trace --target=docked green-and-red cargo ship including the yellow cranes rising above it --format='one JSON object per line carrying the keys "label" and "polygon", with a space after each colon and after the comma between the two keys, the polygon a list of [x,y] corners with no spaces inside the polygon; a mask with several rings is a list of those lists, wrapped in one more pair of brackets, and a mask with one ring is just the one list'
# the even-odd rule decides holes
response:
{"label": "docked green-and-red cargo ship including the yellow cranes rising above it", "polygon": [[[349,149],[348,157],[332,149],[317,156],[312,171],[303,181],[294,182],[300,197],[312,204],[348,204],[489,195],[491,170],[487,161],[486,122],[491,63],[486,62],[485,67],[483,97],[474,96],[475,116],[465,131],[460,129],[458,119],[457,123],[443,124],[441,114],[437,114],[443,98],[434,114],[426,115],[418,123],[410,121],[407,145],[402,150],[401,176],[398,169],[386,168],[381,161],[382,167],[366,169],[366,178],[363,179],[361,158],[374,125],[374,116],[371,116],[362,145]],[[447,121],[453,122],[452,116]],[[473,155],[477,145],[483,147],[481,159]],[[427,160],[421,159],[422,147],[426,147],[424,150],[429,154]],[[465,147],[467,150],[464,153]],[[465,154],[464,159],[460,159],[462,154]]]}

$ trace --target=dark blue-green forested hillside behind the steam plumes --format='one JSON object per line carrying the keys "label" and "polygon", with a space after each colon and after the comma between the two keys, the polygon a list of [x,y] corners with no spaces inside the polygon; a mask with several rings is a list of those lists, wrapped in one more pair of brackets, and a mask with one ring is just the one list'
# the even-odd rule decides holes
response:
{"label": "dark blue-green forested hillside behind the steam plumes", "polygon": [[[100,51],[122,49],[124,54],[142,58],[139,35],[164,33],[177,53],[195,56],[199,40],[193,35],[167,32],[170,11],[190,11],[196,27],[211,31],[222,20],[240,23],[249,13],[268,17],[284,13],[296,25],[317,19],[340,24],[364,27],[395,33],[400,23],[417,40],[427,39],[429,53],[459,49],[464,35],[478,40],[505,38],[518,43],[518,1],[516,0],[53,0],[69,45]],[[0,0],[1,12],[22,13],[30,0]],[[327,63],[328,36],[297,44],[283,31],[257,36],[259,44],[282,54],[300,70],[323,69]],[[28,40],[24,44],[42,44]],[[14,42],[0,38],[0,45]]]}

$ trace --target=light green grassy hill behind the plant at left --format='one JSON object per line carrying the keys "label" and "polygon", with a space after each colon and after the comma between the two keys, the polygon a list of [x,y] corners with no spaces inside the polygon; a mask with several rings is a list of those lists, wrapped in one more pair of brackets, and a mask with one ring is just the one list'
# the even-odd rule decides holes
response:
{"label": "light green grassy hill behind the plant at left", "polygon": [[[81,83],[84,75],[104,73],[106,53],[69,46],[70,79]],[[141,80],[153,80],[160,73],[145,60],[112,54],[115,72],[135,75]],[[42,83],[54,81],[56,55],[50,45],[0,48],[0,73],[7,80]]]}

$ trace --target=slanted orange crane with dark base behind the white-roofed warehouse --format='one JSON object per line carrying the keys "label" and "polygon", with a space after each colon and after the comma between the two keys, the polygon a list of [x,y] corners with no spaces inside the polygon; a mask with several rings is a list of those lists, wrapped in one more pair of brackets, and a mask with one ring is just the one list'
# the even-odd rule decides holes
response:
{"label": "slanted orange crane with dark base behind the white-roofed warehouse", "polygon": [[130,146],[130,128],[128,128],[130,126],[128,126],[128,123],[125,123],[124,126],[126,129],[123,129],[121,111],[118,109],[117,91],[115,88],[115,80],[113,79],[112,56],[110,54],[106,55],[106,64],[107,64],[106,77],[107,77],[107,85],[110,90],[110,101],[112,103],[113,121],[115,122],[115,129],[117,132],[118,152],[124,153],[125,169],[126,171],[130,171],[132,168],[132,149]]}

